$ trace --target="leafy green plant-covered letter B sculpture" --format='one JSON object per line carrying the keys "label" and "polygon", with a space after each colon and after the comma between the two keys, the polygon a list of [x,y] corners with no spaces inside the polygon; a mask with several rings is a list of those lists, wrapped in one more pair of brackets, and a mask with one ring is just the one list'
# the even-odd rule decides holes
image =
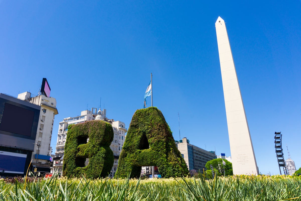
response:
{"label": "leafy green plant-covered letter B sculpture", "polygon": [[113,137],[112,125],[105,121],[95,120],[69,125],[63,175],[80,177],[85,174],[86,177],[92,178],[108,176],[114,163],[113,152],[110,149]]}

